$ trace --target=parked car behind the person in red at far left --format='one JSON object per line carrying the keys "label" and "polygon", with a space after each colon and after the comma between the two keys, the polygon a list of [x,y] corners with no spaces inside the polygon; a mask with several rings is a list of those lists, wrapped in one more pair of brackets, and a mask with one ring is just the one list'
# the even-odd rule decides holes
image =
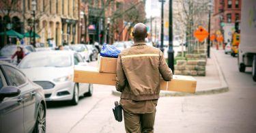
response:
{"label": "parked car behind the person in red at far left", "polygon": [[[29,55],[29,53],[35,52],[35,48],[33,48],[32,45],[20,45],[21,48],[23,48],[23,51],[25,55]],[[11,44],[11,45],[6,45],[0,50],[0,61],[6,61],[9,63],[16,64],[16,57],[12,59],[12,55],[17,50],[17,45],[16,44]]]}

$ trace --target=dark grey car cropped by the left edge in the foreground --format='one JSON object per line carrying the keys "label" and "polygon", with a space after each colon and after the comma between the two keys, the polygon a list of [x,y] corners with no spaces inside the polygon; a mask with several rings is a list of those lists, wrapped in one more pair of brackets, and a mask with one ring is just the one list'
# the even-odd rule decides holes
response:
{"label": "dark grey car cropped by the left edge in the foreground", "polygon": [[0,132],[46,132],[44,90],[0,61]]}

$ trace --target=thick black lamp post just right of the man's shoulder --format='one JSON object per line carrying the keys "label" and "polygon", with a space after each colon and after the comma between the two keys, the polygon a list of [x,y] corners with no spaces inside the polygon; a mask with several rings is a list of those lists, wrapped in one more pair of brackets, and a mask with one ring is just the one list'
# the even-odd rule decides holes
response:
{"label": "thick black lamp post just right of the man's shoulder", "polygon": [[168,66],[174,73],[174,50],[173,50],[173,1],[169,0],[169,50]]}

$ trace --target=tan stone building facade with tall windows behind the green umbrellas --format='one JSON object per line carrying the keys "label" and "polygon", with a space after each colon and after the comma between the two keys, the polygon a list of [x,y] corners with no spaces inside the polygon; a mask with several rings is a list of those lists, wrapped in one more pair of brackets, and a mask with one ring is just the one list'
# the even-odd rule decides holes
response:
{"label": "tan stone building facade with tall windows behind the green umbrellas", "polygon": [[[5,0],[7,1],[7,0]],[[79,20],[79,0],[18,0],[15,8],[10,14],[6,14],[5,3],[1,2],[0,18],[10,18],[8,23],[18,33],[26,33],[32,30],[33,14],[32,2],[35,1],[35,33],[40,35],[36,42],[45,46],[57,46],[64,42],[66,44],[77,43],[77,29]],[[17,10],[16,10],[17,9]],[[3,19],[1,19],[3,22]],[[6,25],[5,25],[6,26]],[[3,27],[1,27],[3,28]],[[29,44],[29,38],[25,39]],[[51,40],[51,41],[50,41]]]}

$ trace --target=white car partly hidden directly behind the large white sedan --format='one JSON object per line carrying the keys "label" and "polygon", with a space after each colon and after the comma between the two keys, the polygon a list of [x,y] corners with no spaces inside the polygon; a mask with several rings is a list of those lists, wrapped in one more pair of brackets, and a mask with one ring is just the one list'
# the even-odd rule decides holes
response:
{"label": "white car partly hidden directly behind the large white sedan", "polygon": [[88,48],[85,46],[85,44],[72,44],[69,46],[72,50],[79,53],[83,57],[83,59],[85,59],[86,61],[89,61]]}

